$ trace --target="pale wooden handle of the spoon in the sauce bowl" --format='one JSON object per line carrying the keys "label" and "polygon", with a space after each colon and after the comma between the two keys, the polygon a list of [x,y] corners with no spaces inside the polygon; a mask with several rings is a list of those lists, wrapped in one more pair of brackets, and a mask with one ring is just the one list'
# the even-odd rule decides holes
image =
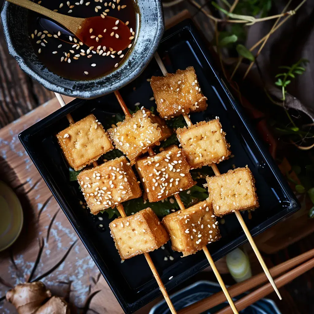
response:
{"label": "pale wooden handle of the spoon in the sauce bowl", "polygon": [[79,25],[81,25],[84,21],[84,19],[82,18],[74,18],[72,16],[51,11],[29,0],[7,0],[7,1],[14,3],[20,7],[35,11],[39,14],[45,15],[48,18],[57,21],[58,23],[65,26],[68,30],[70,30],[74,35],[76,34]]}

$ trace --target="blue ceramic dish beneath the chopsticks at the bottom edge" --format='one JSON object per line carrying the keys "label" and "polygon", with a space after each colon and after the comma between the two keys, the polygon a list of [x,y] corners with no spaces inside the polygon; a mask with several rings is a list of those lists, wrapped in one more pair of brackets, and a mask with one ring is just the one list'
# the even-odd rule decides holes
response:
{"label": "blue ceramic dish beneath the chopsticks at the bottom edge", "polygon": [[[203,300],[214,293],[221,291],[219,284],[210,281],[198,281],[195,284],[176,292],[171,295],[171,301],[176,308],[176,311],[180,311],[183,308]],[[238,295],[236,298],[233,298],[233,301],[241,299],[246,294]],[[216,313],[217,311],[228,306],[228,302],[224,302],[215,306],[202,314],[211,314]],[[278,307],[276,306],[273,300],[261,299],[255,302],[254,304],[248,306],[246,309],[241,311],[242,314],[281,314]],[[165,300],[157,303],[150,311],[149,314],[170,314],[169,307],[166,304]]]}

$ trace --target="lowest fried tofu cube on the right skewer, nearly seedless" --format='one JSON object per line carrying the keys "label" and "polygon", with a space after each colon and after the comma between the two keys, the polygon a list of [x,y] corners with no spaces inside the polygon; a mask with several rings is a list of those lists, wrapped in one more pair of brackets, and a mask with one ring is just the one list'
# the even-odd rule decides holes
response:
{"label": "lowest fried tofu cube on the right skewer, nearly seedless", "polygon": [[229,170],[220,176],[207,176],[206,181],[208,199],[213,203],[216,216],[259,206],[255,180],[248,166]]}

